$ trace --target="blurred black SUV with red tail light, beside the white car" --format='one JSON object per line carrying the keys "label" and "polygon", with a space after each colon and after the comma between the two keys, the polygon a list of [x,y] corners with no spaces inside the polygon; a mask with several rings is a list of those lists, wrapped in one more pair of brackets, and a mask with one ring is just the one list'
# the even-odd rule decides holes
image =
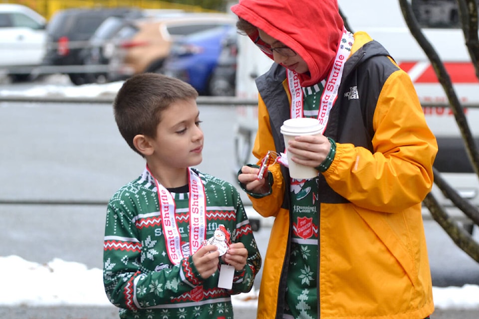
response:
{"label": "blurred black SUV with red tail light, beside the white car", "polygon": [[[85,83],[83,65],[80,56],[82,48],[88,45],[88,40],[98,26],[108,17],[138,17],[143,11],[132,7],[119,8],[73,8],[57,11],[47,26],[47,46],[43,59],[45,66],[61,66],[53,68],[52,73],[68,74],[70,80],[80,85]],[[58,72],[54,72],[58,70]]]}

